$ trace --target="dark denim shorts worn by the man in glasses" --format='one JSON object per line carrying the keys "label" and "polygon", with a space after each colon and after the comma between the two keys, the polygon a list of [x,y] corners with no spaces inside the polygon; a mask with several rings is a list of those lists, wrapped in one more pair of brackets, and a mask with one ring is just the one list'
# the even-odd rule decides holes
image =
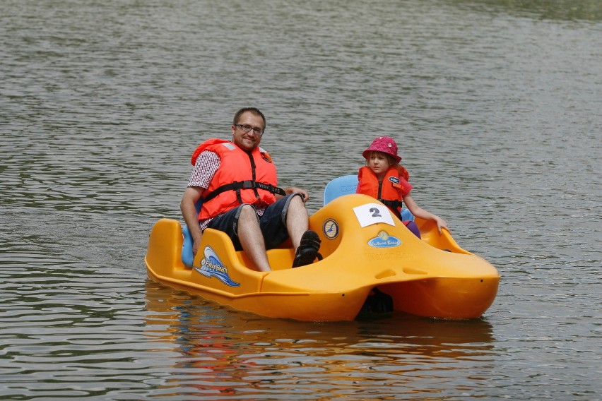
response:
{"label": "dark denim shorts worn by the man in glasses", "polygon": [[[276,248],[288,239],[286,213],[288,212],[288,205],[290,204],[290,200],[293,199],[293,196],[301,196],[301,194],[293,193],[276,200],[276,202],[266,208],[264,215],[257,216],[259,228],[261,229],[261,233],[264,234],[266,249]],[[237,251],[242,250],[242,246],[238,240],[238,217],[240,217],[242,206],[244,205],[240,205],[237,208],[228,210],[228,212],[223,215],[219,215],[211,220],[207,226],[207,228],[218,229],[228,234],[228,237],[232,239],[234,249]]]}

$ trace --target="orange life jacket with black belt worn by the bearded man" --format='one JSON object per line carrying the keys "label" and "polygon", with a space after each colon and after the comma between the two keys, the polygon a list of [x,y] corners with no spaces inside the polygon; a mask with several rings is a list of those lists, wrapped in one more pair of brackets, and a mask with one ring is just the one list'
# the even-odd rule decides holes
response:
{"label": "orange life jacket with black belt worn by the bearded man", "polygon": [[274,193],[285,195],[276,186],[276,166],[265,150],[256,147],[245,152],[229,140],[209,139],[194,150],[191,157],[193,165],[204,150],[217,153],[220,167],[201,195],[203,207],[199,220],[216,217],[242,203],[270,205],[276,201]]}

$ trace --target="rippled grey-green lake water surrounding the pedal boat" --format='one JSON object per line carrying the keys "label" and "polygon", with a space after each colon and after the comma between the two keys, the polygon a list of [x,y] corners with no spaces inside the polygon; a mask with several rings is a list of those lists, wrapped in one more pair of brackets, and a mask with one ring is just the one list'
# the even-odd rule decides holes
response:
{"label": "rippled grey-green lake water surrounding the pedal boat", "polygon": [[[602,4],[0,0],[0,399],[598,400]],[[483,318],[302,323],[148,280],[191,151],[259,107],[281,186],[394,136],[500,271]]]}

